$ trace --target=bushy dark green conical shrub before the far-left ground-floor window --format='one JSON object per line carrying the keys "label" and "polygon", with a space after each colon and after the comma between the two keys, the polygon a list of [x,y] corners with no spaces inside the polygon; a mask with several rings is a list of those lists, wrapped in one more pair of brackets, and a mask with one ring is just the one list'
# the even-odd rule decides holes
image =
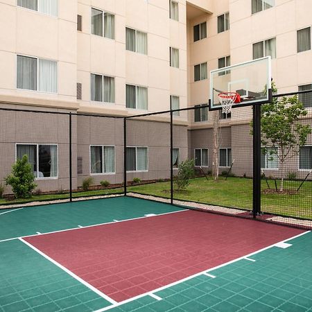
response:
{"label": "bushy dark green conical shrub before the far-left ground-floor window", "polygon": [[31,197],[31,192],[37,187],[37,184],[34,182],[33,168],[28,163],[27,155],[17,159],[12,166],[12,173],[6,177],[5,181],[6,185],[12,187],[15,198]]}

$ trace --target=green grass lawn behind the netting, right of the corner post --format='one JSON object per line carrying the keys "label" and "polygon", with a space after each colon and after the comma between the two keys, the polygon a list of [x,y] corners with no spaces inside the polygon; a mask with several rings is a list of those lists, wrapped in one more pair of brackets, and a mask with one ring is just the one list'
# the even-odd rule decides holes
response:
{"label": "green grass lawn behind the netting, right of the corner post", "polygon": [[[274,180],[268,181],[270,188],[275,189]],[[296,190],[300,181],[284,181],[284,189]],[[279,187],[279,181],[277,181]],[[261,189],[268,189],[265,180],[261,181]],[[170,182],[157,182],[128,187],[128,191],[135,191],[147,195],[170,198]],[[191,180],[186,191],[174,193],[177,200],[191,200],[211,205],[252,209],[252,179],[241,177],[219,177],[218,181],[209,181],[205,177]],[[261,211],[283,216],[312,219],[312,182],[305,182],[298,194],[262,194]]]}

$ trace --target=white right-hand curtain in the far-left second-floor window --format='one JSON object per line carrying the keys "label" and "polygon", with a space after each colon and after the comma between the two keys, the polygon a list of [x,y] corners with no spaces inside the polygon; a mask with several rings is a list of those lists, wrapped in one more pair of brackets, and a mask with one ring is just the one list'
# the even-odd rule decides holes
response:
{"label": "white right-hand curtain in the far-left second-floor window", "polygon": [[39,60],[38,89],[43,92],[58,92],[58,63]]}

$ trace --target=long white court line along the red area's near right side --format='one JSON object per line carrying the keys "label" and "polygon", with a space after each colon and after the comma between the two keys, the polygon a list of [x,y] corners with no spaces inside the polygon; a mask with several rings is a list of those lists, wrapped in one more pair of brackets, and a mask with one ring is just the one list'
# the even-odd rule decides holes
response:
{"label": "long white court line along the red area's near right side", "polygon": [[[289,238],[289,239],[285,239],[284,241],[281,241],[281,242],[291,241],[291,239],[297,239],[297,237],[300,237],[300,236],[302,236],[302,235],[308,234],[308,233],[310,233],[310,232],[311,232],[311,231],[303,232],[303,233],[298,234],[298,235],[295,235],[295,236],[293,236],[293,237],[291,237],[291,238]],[[231,263],[234,263],[234,262],[236,262],[236,261],[245,259],[246,257],[251,257],[252,255],[258,254],[259,252],[263,252],[264,250],[268,250],[268,249],[274,247],[276,244],[277,244],[277,243],[272,244],[272,245],[270,245],[270,246],[268,246],[268,247],[262,248],[262,249],[260,249],[260,250],[257,250],[256,252],[252,252],[251,254],[246,254],[246,255],[243,256],[243,257],[239,257],[239,258],[237,258],[237,259],[234,259],[234,260],[228,261],[228,262],[226,262],[226,263],[220,264],[219,266],[215,266],[214,268],[209,268],[208,270],[205,270],[205,271],[202,271],[202,272],[198,272],[198,273],[196,273],[196,274],[194,274],[194,275],[191,275],[191,276],[189,276],[189,277],[185,277],[184,279],[180,279],[180,281],[174,281],[174,282],[171,283],[171,284],[168,284],[168,285],[166,285],[166,286],[162,286],[162,287],[160,287],[160,288],[154,289],[153,291],[149,291],[148,293],[142,293],[141,295],[137,295],[137,296],[132,297],[132,298],[127,299],[127,300],[123,300],[123,301],[121,301],[121,302],[118,302],[117,304],[113,304],[112,306],[106,306],[105,308],[98,309],[98,310],[96,310],[96,311],[94,311],[94,312],[103,312],[103,311],[107,311],[107,310],[116,308],[116,306],[121,306],[122,304],[131,302],[131,301],[133,301],[133,300],[137,300],[137,299],[139,299],[139,298],[141,298],[141,297],[145,297],[146,295],[151,295],[151,294],[153,294],[153,293],[157,293],[157,291],[163,291],[164,289],[169,288],[169,287],[172,287],[172,286],[175,286],[175,285],[177,285],[177,284],[180,284],[180,283],[182,283],[183,281],[188,281],[189,279],[193,279],[193,277],[198,277],[198,276],[203,275],[203,274],[205,274],[205,273],[207,273],[207,272],[216,270],[216,269],[218,269],[218,268],[222,268],[223,266],[227,266],[227,265],[229,265],[229,264],[231,264]],[[206,275],[206,274],[205,274],[205,275]]]}

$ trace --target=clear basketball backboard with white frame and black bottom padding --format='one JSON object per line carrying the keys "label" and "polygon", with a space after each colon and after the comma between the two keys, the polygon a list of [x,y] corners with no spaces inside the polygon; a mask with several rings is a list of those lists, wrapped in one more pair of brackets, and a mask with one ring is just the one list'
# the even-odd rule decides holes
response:
{"label": "clear basketball backboard with white frame and black bottom padding", "polygon": [[259,58],[210,72],[209,110],[220,110],[218,94],[236,92],[241,97],[233,107],[268,103],[271,88],[271,58]]}

